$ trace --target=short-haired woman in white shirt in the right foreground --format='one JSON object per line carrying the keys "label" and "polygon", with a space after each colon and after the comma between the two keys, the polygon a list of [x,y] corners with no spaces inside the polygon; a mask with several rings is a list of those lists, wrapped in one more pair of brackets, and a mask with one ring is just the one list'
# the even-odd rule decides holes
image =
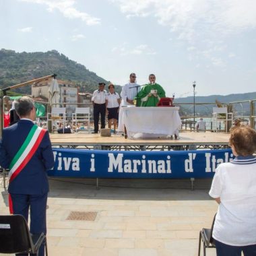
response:
{"label": "short-haired woman in white shirt in the right foreground", "polygon": [[231,131],[236,158],[216,169],[210,196],[220,204],[214,223],[217,256],[256,255],[256,131]]}

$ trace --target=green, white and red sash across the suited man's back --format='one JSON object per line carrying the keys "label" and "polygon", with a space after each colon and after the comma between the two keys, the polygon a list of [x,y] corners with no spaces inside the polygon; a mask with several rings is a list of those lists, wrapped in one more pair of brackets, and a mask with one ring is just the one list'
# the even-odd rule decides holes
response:
{"label": "green, white and red sash across the suited man's back", "polygon": [[46,129],[33,125],[20,150],[15,154],[9,166],[9,183],[18,176],[23,168],[28,164],[38,146],[40,145]]}

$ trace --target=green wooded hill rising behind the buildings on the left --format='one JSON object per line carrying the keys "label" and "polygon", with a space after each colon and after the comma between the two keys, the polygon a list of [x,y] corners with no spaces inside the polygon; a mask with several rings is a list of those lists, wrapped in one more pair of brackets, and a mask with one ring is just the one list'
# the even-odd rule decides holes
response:
{"label": "green wooded hill rising behind the buildings on the left", "polygon": [[[0,88],[6,88],[46,75],[57,74],[58,79],[75,82],[80,92],[93,92],[98,88],[98,82],[109,84],[106,79],[86,69],[84,65],[71,61],[57,51],[46,53],[15,53],[1,49],[0,51]],[[116,87],[117,92],[121,87]],[[16,92],[30,94],[30,86],[18,88]]]}

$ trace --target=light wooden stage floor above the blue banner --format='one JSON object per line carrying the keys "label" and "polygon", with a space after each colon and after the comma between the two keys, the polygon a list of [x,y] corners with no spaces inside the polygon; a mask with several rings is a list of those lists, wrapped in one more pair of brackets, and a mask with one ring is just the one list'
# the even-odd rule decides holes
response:
{"label": "light wooden stage floor above the blue banner", "polygon": [[100,133],[50,134],[53,148],[88,150],[198,150],[228,148],[229,133],[181,132],[180,139],[125,139],[121,134],[102,137]]}

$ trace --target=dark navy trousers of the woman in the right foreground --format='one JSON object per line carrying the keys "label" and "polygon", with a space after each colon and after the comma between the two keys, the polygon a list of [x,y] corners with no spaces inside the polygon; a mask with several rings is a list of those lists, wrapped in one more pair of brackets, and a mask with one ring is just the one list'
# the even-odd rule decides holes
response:
{"label": "dark navy trousers of the woman in the right foreground", "polygon": [[217,256],[256,256],[256,245],[232,246],[216,241]]}

